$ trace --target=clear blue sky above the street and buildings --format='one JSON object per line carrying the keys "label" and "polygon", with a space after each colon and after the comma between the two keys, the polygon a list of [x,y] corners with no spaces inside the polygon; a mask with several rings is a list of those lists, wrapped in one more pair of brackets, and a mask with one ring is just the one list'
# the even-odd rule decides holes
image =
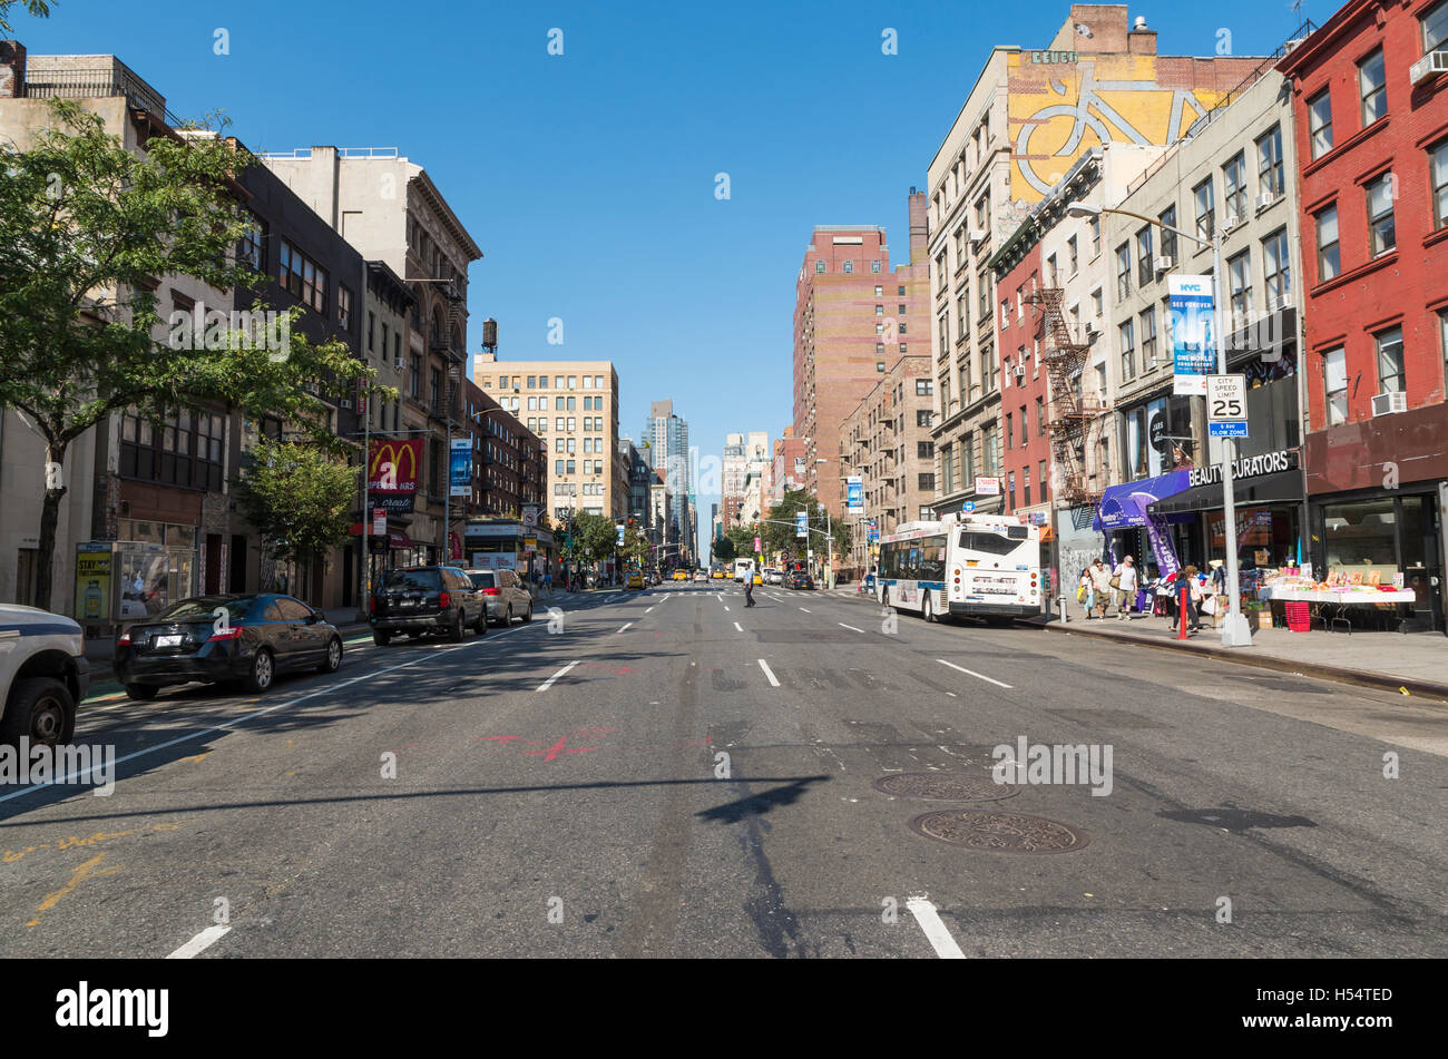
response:
{"label": "clear blue sky above the street and buildings", "polygon": [[[502,360],[613,359],[636,438],[663,398],[701,456],[727,431],[778,437],[811,227],[885,224],[904,260],[905,195],[989,46],[1044,48],[1069,4],[610,7],[55,0],[49,20],[10,17],[32,52],[119,55],[181,117],[224,110],[253,150],[400,148],[484,250],[469,350],[492,315]],[[1322,23],[1335,7],[1305,13]],[[1297,23],[1283,0],[1129,10],[1169,55],[1213,54],[1221,27],[1237,54],[1264,54]],[[214,54],[219,27],[229,55]],[[898,55],[880,51],[885,27]],[[562,346],[547,344],[552,317]]]}

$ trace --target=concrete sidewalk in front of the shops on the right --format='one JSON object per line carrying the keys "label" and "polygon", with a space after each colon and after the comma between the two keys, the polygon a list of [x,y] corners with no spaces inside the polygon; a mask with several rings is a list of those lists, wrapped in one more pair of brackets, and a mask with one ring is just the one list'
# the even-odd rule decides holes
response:
{"label": "concrete sidewalk in front of the shops on the right", "polygon": [[1118,621],[1082,616],[1070,621],[1032,621],[1051,632],[1121,639],[1167,651],[1187,651],[1258,668],[1302,673],[1361,687],[1381,687],[1448,700],[1448,637],[1438,632],[1292,632],[1260,629],[1251,647],[1222,647],[1221,629],[1203,624],[1187,639],[1177,639],[1169,618]]}

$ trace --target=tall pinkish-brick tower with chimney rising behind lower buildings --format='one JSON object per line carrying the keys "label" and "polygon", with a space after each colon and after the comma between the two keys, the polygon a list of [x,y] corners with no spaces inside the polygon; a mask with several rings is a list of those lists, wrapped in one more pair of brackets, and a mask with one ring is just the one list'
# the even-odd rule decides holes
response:
{"label": "tall pinkish-brick tower with chimney rising behind lower buildings", "polygon": [[[927,326],[925,197],[911,188],[909,259],[891,271],[885,229],[817,226],[795,284],[795,437],[805,489],[844,512],[840,424]],[[820,463],[818,460],[825,460]]]}

